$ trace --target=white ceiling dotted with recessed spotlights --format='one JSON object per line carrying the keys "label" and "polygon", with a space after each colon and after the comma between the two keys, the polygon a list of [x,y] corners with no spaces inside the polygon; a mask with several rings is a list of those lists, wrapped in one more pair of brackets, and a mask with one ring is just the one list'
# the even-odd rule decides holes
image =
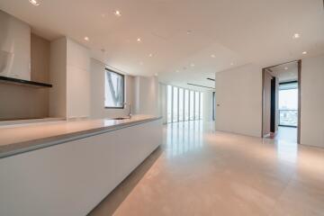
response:
{"label": "white ceiling dotted with recessed spotlights", "polygon": [[[0,0],[0,8],[49,40],[67,35],[85,44],[94,58],[125,73],[158,74],[181,86],[213,86],[206,78],[230,67],[266,67],[302,58],[304,50],[324,51],[322,0],[41,0],[37,7]],[[296,32],[300,39],[293,39]]]}

